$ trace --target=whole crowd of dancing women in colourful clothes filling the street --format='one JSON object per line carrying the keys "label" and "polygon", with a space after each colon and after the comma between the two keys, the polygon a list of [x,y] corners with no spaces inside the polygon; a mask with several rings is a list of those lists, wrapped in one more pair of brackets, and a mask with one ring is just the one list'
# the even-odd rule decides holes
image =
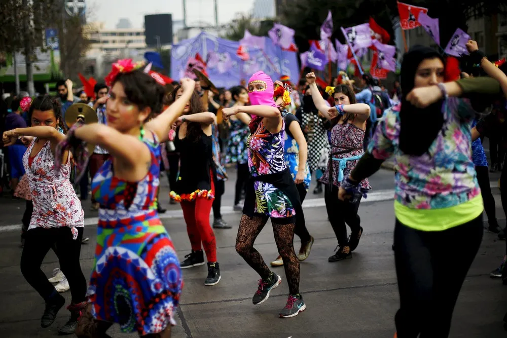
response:
{"label": "whole crowd of dancing women in colourful clothes filling the street", "polygon": [[[142,64],[122,60],[95,85],[92,100],[75,96],[71,81],[57,84],[57,97],[20,93],[2,100],[10,187],[26,200],[21,272],[46,303],[41,326],[54,322],[65,303],[59,292],[70,289],[61,334],[106,337],[118,323],[124,332],[169,337],[184,286],[181,269],[206,263],[204,285],[221,281],[213,229],[232,228],[220,208],[233,166],[232,207],[243,213],[236,251],[260,276],[252,303],[264,303],[282,282],[253,247],[271,219],[279,256],[270,265],[283,266],[289,289],[279,317],[295,317],[307,308],[300,261],[315,242],[302,207],[311,180],[318,182],[314,194],[323,191],[337,239],[328,260],[349,259],[368,230],[358,215],[373,189],[368,177],[394,157],[395,336],[447,337],[481,244],[483,210],[488,230],[504,238],[481,138],[505,149],[507,65],[495,66],[474,41],[467,48],[468,62],[450,69],[437,51],[412,47],[391,93],[369,74],[353,81],[340,72],[323,88],[313,72],[296,86],[258,71],[246,86],[214,94],[196,79],[162,86]],[[93,108],[98,123],[78,119],[68,128],[65,111],[75,102]],[[490,170],[502,172],[505,211],[504,151],[495,154]],[[180,204],[187,224],[191,252],[182,261],[158,216],[165,212],[158,203],[163,171],[171,203]],[[79,264],[86,240],[80,199],[89,191],[98,233],[87,288]],[[49,249],[60,267],[48,280],[41,264]],[[505,258],[491,276],[507,284]],[[63,280],[60,289],[52,284]]]}

